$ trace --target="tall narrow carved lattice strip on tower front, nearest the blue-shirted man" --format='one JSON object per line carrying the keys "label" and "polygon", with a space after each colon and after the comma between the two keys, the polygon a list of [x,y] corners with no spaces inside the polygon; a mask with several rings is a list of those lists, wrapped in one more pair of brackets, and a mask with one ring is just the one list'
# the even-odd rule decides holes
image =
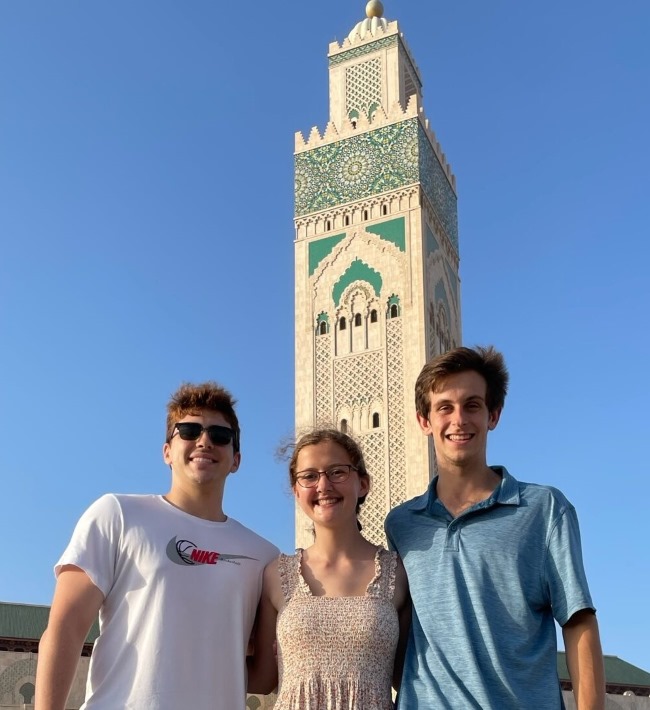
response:
{"label": "tall narrow carved lattice strip on tower front, nearest the blue-shirted man", "polygon": [[402,319],[386,322],[388,366],[388,456],[390,462],[390,507],[406,500],[406,456],[404,445],[404,350]]}

